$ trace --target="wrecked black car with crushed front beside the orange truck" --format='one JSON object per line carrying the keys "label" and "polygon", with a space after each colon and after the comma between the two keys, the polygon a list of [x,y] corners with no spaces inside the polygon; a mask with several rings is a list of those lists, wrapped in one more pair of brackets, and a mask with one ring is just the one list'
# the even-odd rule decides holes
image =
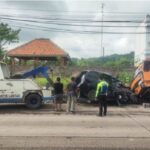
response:
{"label": "wrecked black car with crushed front beside the orange truck", "polygon": [[129,88],[125,87],[113,76],[97,71],[83,71],[77,76],[76,83],[80,88],[79,100],[95,101],[96,86],[99,78],[109,83],[108,101],[115,102],[118,105],[131,102],[130,97],[133,93]]}

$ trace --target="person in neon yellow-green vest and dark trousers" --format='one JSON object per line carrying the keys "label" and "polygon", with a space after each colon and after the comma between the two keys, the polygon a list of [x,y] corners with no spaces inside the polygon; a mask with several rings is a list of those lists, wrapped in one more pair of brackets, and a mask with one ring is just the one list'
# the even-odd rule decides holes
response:
{"label": "person in neon yellow-green vest and dark trousers", "polygon": [[99,103],[99,116],[107,115],[107,94],[109,84],[104,80],[99,80],[96,88],[96,99]]}

